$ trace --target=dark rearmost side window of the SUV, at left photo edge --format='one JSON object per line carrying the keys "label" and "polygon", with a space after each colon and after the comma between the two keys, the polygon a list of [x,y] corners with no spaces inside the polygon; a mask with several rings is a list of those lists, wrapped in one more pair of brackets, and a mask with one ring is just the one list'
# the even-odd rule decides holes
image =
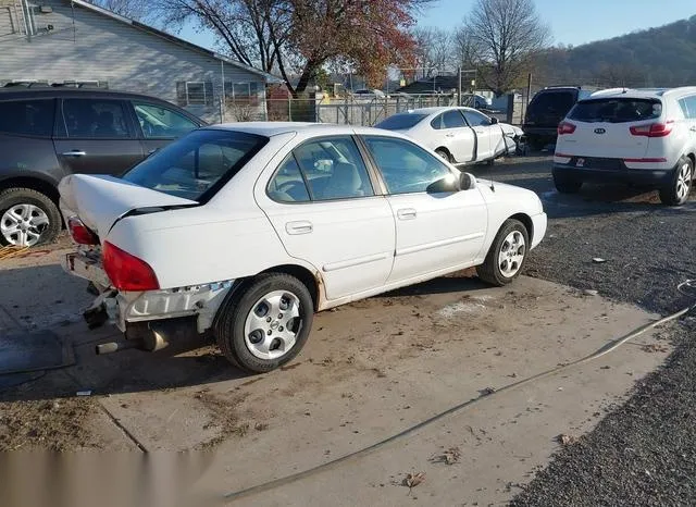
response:
{"label": "dark rearmost side window of the SUV, at left photo edge", "polygon": [[0,102],[0,132],[20,136],[51,137],[54,100]]}

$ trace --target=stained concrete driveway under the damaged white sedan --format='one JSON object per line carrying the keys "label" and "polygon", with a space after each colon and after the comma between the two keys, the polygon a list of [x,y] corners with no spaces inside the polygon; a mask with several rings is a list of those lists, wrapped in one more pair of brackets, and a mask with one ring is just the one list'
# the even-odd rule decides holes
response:
{"label": "stained concrete driveway under the damaged white sedan", "polygon": [[[547,462],[558,435],[589,431],[670,351],[664,331],[647,333],[500,392],[656,316],[530,277],[489,288],[464,272],[319,314],[304,351],[265,375],[247,376],[196,341],[95,356],[115,331],[79,321],[90,296],[61,272],[64,247],[0,264],[0,333],[51,329],[76,361],[0,393],[0,448],[211,450],[186,487],[209,499],[332,463],[475,400],[370,454],[228,499],[505,502]],[[403,485],[419,472],[420,484]]]}

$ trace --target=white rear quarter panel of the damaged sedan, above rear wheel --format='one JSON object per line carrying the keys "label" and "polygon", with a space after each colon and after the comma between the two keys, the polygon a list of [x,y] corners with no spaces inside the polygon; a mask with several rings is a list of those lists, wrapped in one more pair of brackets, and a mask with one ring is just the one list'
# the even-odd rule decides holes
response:
{"label": "white rear quarter panel of the damaged sedan, above rear wheel", "polygon": [[293,136],[274,136],[207,205],[134,215],[115,223],[107,240],[152,267],[161,288],[252,276],[298,264],[289,258],[253,197],[268,161]]}

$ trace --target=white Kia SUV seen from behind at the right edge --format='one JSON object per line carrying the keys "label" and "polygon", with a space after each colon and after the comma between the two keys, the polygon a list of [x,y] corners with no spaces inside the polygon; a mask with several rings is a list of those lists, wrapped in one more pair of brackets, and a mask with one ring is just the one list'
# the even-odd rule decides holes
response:
{"label": "white Kia SUV seen from behind at the right edge", "polygon": [[663,203],[682,205],[695,161],[696,87],[602,90],[559,124],[554,182],[568,194],[584,182],[648,185]]}

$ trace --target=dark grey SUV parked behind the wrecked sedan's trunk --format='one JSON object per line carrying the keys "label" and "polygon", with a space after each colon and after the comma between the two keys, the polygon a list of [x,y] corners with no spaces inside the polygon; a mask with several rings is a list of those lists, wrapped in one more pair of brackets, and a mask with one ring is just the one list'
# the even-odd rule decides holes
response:
{"label": "dark grey SUV parked behind the wrecked sedan's trunk", "polygon": [[58,183],[120,174],[204,122],[163,100],[99,89],[0,90],[0,246],[51,242]]}

